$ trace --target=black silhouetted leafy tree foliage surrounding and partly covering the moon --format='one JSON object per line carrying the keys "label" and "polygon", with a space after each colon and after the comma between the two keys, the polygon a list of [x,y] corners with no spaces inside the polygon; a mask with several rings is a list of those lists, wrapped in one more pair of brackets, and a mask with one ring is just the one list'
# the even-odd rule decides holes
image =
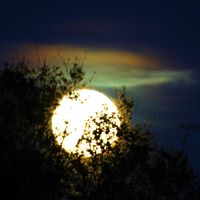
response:
{"label": "black silhouetted leafy tree foliage surrounding and partly covering the moon", "polygon": [[83,79],[78,62],[63,67],[44,62],[36,68],[22,59],[2,67],[1,195],[20,200],[200,199],[199,180],[186,154],[158,148],[146,126],[131,122],[134,102],[124,89],[117,92],[121,126],[112,124],[118,137],[114,146],[99,140],[101,128],[93,133],[101,154],[88,149],[92,156],[85,158],[57,144],[53,110],[63,94],[82,87]]}

